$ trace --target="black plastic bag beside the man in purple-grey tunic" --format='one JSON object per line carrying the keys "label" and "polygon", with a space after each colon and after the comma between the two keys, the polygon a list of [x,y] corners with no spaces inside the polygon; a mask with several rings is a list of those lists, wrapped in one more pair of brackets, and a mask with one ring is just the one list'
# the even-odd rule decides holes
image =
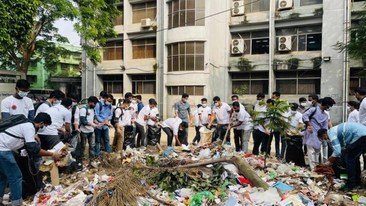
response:
{"label": "black plastic bag beside the man in purple-grey tunic", "polygon": [[290,139],[286,139],[286,162],[293,162],[296,166],[305,167],[306,163],[303,150],[303,138],[299,135],[290,136],[289,138]]}

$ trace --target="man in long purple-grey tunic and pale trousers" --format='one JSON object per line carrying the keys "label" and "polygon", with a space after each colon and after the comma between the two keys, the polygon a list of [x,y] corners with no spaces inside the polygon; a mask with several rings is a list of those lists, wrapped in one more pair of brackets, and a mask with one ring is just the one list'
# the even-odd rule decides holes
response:
{"label": "man in long purple-grey tunic and pale trousers", "polygon": [[310,108],[303,114],[303,122],[307,126],[303,144],[307,147],[311,170],[314,170],[315,166],[319,164],[320,149],[322,146],[322,140],[318,138],[317,132],[320,129],[328,129],[328,114],[325,111],[330,111],[334,104],[335,101],[331,97],[325,97],[319,107]]}

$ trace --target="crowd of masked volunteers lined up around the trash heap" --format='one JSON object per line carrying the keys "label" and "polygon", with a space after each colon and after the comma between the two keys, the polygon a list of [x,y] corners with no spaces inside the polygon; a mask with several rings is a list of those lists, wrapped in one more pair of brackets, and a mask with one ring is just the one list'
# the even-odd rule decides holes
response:
{"label": "crowd of masked volunteers lined up around the trash heap", "polygon": [[[315,169],[322,161],[323,165],[330,166],[341,156],[341,149],[347,148],[345,156],[348,182],[344,189],[351,190],[360,186],[359,157],[365,153],[366,148],[366,101],[363,101],[366,91],[362,88],[354,90],[355,98],[361,102],[359,111],[355,101],[348,102],[347,123],[335,127],[329,116],[335,101],[330,97],[319,99],[318,95],[311,94],[307,98],[301,97],[298,103],[286,103],[291,106],[289,111],[283,113],[284,121],[288,121],[292,127],[285,131],[285,135],[267,128],[269,122],[253,125],[253,120],[267,112],[268,107],[281,102],[279,92],[273,92],[269,99],[265,99],[265,94],[257,94],[258,103],[253,107],[254,112],[246,111],[237,95],[231,96],[231,107],[222,102],[219,96],[213,97],[212,106],[207,104],[207,98],[202,98],[197,110],[192,112],[188,103],[189,94],[183,94],[181,100],[174,104],[175,115],[159,124],[161,119],[156,108],[157,102],[151,98],[144,105],[141,95],[126,93],[117,108],[113,108],[113,95],[102,91],[99,97],[90,96],[88,103],[79,109],[79,97],[76,94],[65,97],[60,90],[54,90],[45,101],[34,104],[27,97],[30,91],[28,81],[18,80],[15,90],[14,95],[1,102],[0,203],[9,183],[13,205],[22,204],[22,176],[13,152],[24,148],[28,155],[58,159],[61,156],[59,152],[48,150],[54,148],[61,139],[70,136],[70,132],[77,131],[80,133],[82,154],[88,144],[88,157],[92,159],[101,150],[122,151],[127,130],[133,131],[133,145],[137,148],[145,147],[147,128],[157,125],[166,133],[168,146],[172,146],[173,137],[176,146],[188,145],[188,128],[193,125],[196,129],[194,145],[200,142],[202,127],[215,128],[212,139],[226,142],[230,142],[230,129],[233,128],[236,151],[248,152],[252,134],[252,152],[255,155],[260,152],[270,153],[270,147],[268,150],[266,147],[274,137],[275,157],[278,159],[284,159],[287,155],[286,138],[300,138],[304,144],[304,151],[301,151],[307,155],[310,169]],[[260,115],[255,115],[256,112]],[[215,120],[217,124],[214,126]],[[115,134],[110,144],[109,130],[112,128]],[[329,155],[328,149],[333,151]],[[323,159],[320,157],[321,150]],[[302,164],[305,161],[300,163]]]}

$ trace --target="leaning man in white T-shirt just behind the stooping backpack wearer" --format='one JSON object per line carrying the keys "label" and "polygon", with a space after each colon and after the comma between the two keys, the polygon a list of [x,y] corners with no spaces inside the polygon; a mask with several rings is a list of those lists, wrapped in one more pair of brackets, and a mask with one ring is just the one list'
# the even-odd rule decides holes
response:
{"label": "leaning man in white T-shirt just behind the stooping backpack wearer", "polygon": [[[69,111],[71,105],[71,99],[64,97],[61,100],[61,105],[51,107],[45,111],[51,116],[52,124],[37,132],[43,150],[50,150],[61,141],[59,131],[64,136],[71,132],[71,112]],[[62,128],[63,125],[65,125],[65,128]]]}

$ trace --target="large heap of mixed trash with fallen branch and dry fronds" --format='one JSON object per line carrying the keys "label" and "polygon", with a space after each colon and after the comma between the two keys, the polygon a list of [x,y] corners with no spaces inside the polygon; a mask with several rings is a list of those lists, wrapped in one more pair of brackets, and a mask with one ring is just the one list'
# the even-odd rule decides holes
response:
{"label": "large heap of mixed trash with fallen branch and dry fronds", "polygon": [[[366,205],[366,193],[341,193],[344,179],[208,143],[105,153],[25,201],[28,206]],[[365,175],[365,174],[363,174]]]}

